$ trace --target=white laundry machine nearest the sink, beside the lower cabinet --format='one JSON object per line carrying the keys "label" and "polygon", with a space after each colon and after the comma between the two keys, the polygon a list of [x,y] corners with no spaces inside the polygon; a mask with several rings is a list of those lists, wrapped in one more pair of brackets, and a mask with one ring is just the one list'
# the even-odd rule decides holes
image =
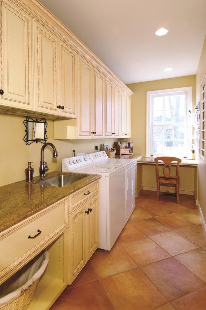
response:
{"label": "white laundry machine nearest the sink, beside the lower cabinet", "polygon": [[[107,155],[101,154],[101,157],[106,158]],[[107,159],[102,163],[93,163],[88,154],[64,158],[61,169],[73,173],[101,175],[99,248],[110,251],[125,226],[125,166],[107,163]]]}

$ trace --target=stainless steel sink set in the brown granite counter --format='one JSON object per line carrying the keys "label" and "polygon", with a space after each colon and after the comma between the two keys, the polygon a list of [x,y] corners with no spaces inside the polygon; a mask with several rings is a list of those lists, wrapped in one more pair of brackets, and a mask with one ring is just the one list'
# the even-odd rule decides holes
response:
{"label": "stainless steel sink set in the brown granite counter", "polygon": [[85,178],[85,176],[76,176],[76,175],[58,175],[57,177],[47,179],[41,182],[38,182],[39,185],[50,185],[50,186],[59,186],[64,187],[71,183],[74,183],[78,180]]}

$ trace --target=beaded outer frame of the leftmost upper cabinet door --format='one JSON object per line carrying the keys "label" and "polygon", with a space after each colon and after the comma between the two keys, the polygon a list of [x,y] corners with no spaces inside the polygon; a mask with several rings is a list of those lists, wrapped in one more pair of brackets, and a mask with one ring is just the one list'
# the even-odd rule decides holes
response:
{"label": "beaded outer frame of the leftmost upper cabinet door", "polygon": [[[13,2],[11,0],[11,2]],[[16,5],[16,3],[14,3]],[[2,1],[2,5],[1,5],[1,12],[0,12],[0,16],[1,16],[1,21],[3,22],[3,19],[2,19],[2,11],[3,11],[3,6],[6,8],[10,8],[11,10],[13,10],[14,12],[16,12],[18,15],[22,16],[23,19],[26,19],[27,20],[27,76],[28,76],[28,85],[27,85],[27,91],[28,91],[28,102],[24,102],[24,104],[26,105],[30,105],[30,92],[29,92],[29,81],[30,81],[30,77],[29,77],[29,20],[28,18],[26,18],[26,16],[22,15],[20,12],[18,12],[15,8],[11,7],[8,3],[5,3],[4,1]],[[18,5],[16,5],[18,7]],[[21,8],[21,7],[19,7]],[[24,11],[24,10],[23,10]],[[25,11],[25,13],[27,13]],[[30,15],[30,14],[28,14]],[[2,24],[0,25],[0,28],[1,28],[1,31],[0,31],[0,39],[1,39],[1,42],[2,41]],[[1,43],[2,44],[2,43]],[[3,89],[3,55],[2,55],[2,48],[1,48],[1,89]],[[19,102],[19,103],[22,103],[22,101],[19,101],[19,100],[15,100],[15,99],[8,99],[8,98],[4,98],[4,100],[7,100],[7,101],[11,101],[11,102]]]}

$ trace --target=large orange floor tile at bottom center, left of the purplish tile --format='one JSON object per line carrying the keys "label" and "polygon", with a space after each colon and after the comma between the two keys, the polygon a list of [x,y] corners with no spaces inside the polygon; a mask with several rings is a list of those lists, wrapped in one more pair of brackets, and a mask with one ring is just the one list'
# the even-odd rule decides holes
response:
{"label": "large orange floor tile at bottom center, left of the purplish tile", "polygon": [[149,310],[167,302],[138,268],[101,282],[115,310]]}

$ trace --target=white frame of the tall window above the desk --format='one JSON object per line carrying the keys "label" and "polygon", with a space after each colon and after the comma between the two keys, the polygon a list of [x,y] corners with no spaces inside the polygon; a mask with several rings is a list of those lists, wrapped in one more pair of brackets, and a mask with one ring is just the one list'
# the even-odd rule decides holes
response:
{"label": "white frame of the tall window above the desk", "polygon": [[[179,88],[170,88],[163,90],[153,90],[147,91],[147,112],[146,112],[146,157],[154,157],[152,151],[152,124],[153,124],[153,98],[154,96],[161,95],[178,95],[179,93],[186,92],[186,107],[185,113],[187,117],[187,138],[186,138],[186,147],[187,147],[187,158],[192,158],[191,156],[191,146],[192,146],[192,125],[189,126],[189,117],[187,111],[192,111],[192,86],[189,87],[179,87]],[[152,156],[151,156],[152,155]],[[158,154],[157,156],[168,156],[167,154]],[[178,156],[178,154],[176,155]]]}

